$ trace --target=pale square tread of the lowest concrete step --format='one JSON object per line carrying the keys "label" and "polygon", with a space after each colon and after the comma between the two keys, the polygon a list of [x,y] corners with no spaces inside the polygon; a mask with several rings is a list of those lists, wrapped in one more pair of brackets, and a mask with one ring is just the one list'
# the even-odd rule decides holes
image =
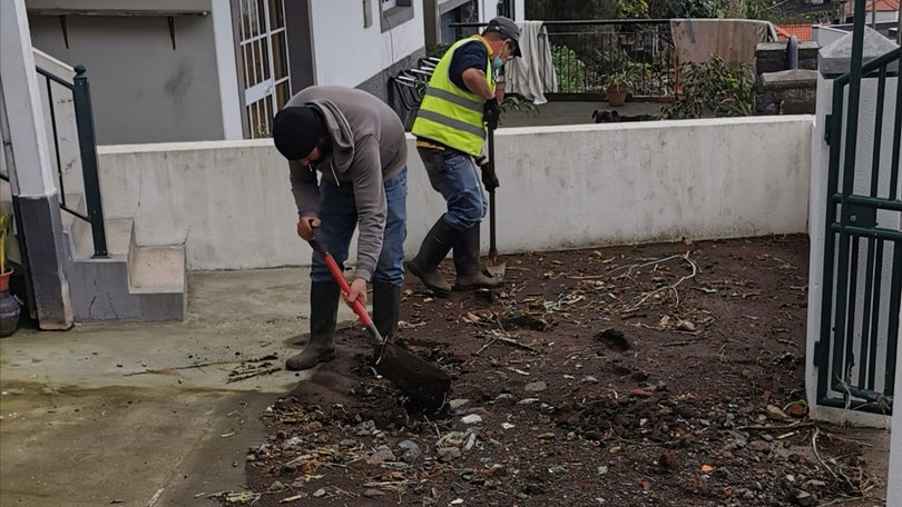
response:
{"label": "pale square tread of the lowest concrete step", "polygon": [[133,292],[185,292],[185,247],[138,247],[128,256]]}

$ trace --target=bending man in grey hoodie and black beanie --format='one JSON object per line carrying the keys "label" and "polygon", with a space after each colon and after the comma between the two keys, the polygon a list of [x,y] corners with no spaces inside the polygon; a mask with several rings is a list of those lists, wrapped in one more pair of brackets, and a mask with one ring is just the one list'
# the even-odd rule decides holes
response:
{"label": "bending man in grey hoodie and black beanie", "polygon": [[[297,235],[317,239],[340,266],[359,228],[357,261],[345,302],[366,304],[373,287],[373,321],[389,337],[398,326],[406,235],[406,140],[398,115],[365,91],[310,87],[273,120],[275,147],[286,159],[297,205]],[[318,177],[318,178],[317,178]],[[285,362],[302,370],[331,360],[340,288],[323,257],[313,252],[310,341]]]}

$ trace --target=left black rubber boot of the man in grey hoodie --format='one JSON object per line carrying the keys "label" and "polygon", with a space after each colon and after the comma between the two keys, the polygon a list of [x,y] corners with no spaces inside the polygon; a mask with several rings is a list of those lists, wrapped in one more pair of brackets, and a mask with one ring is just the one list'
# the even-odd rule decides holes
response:
{"label": "left black rubber boot of the man in grey hoodie", "polygon": [[301,354],[290,357],[285,368],[292,371],[313,368],[335,357],[335,322],[339,319],[337,284],[314,281],[310,286],[310,340]]}

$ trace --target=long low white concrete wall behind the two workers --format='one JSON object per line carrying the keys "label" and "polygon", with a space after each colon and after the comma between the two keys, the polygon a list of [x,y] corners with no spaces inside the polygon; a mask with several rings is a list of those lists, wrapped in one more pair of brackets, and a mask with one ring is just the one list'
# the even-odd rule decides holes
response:
{"label": "long low white concrete wall behind the two workers", "polygon": [[[811,129],[811,116],[501,129],[499,250],[804,232]],[[99,152],[104,212],[134,216],[138,245],[185,242],[192,270],[308,264],[271,140]],[[409,152],[413,255],[444,202],[412,139]]]}

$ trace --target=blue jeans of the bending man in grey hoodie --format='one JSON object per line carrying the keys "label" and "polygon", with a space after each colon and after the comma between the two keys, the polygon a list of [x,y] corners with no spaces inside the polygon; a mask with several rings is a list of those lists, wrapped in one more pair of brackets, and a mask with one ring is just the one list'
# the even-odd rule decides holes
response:
{"label": "blue jeans of the bending man in grey hoodie", "polygon": [[[389,212],[382,251],[373,274],[374,284],[401,285],[404,281],[404,238],[408,235],[408,168],[383,181]],[[347,249],[357,227],[357,206],[351,185],[336,186],[327,178],[320,180],[320,232],[326,250],[339,266],[347,260]],[[317,233],[318,236],[318,233]],[[334,281],[323,256],[313,252],[310,279],[314,282]]]}

